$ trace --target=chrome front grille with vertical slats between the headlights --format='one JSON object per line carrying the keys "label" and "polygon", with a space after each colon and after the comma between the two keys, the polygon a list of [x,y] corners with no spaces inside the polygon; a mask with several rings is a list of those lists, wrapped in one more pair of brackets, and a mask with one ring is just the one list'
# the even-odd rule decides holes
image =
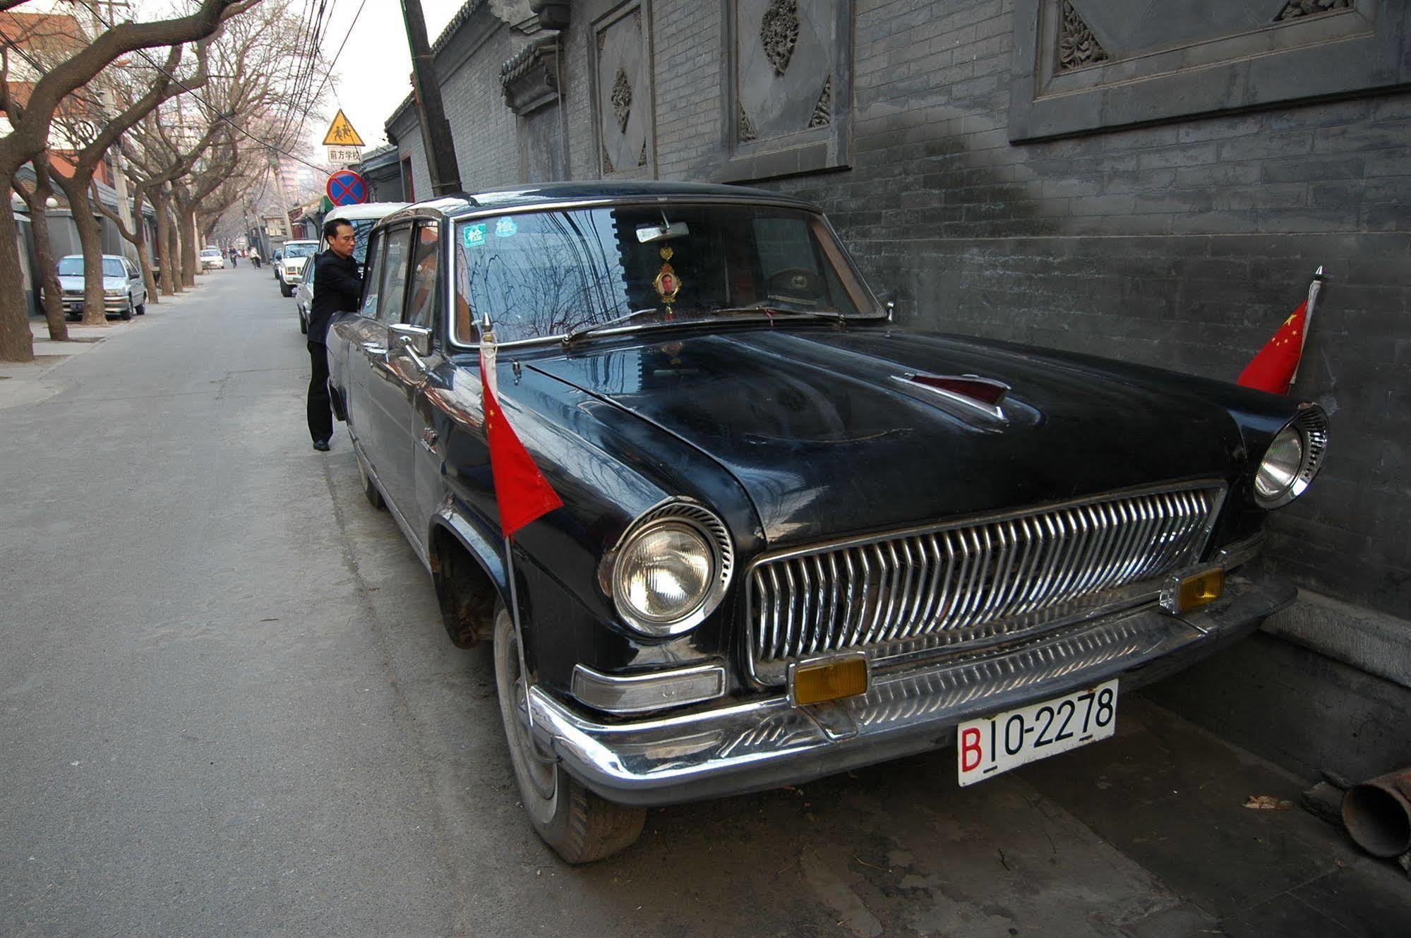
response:
{"label": "chrome front grille with vertical slats between the headlights", "polygon": [[751,568],[759,677],[842,649],[958,646],[1130,598],[1197,559],[1218,484],[1109,495],[765,557]]}

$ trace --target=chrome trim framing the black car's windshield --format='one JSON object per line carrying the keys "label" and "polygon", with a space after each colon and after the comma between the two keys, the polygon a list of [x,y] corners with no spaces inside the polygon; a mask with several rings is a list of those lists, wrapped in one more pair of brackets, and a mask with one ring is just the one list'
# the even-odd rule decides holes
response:
{"label": "chrome trim framing the black car's windshield", "polygon": [[[450,255],[452,255],[450,257],[450,262],[447,264],[447,271],[446,271],[447,272],[447,292],[446,292],[446,303],[443,305],[446,307],[446,341],[447,341],[447,350],[450,351],[450,354],[456,354],[457,351],[478,351],[480,350],[480,343],[478,341],[477,343],[463,343],[463,341],[459,341],[456,339],[456,330],[452,329],[452,324],[450,324],[452,323],[450,307],[454,305],[454,296],[456,296],[456,269],[454,269],[456,268],[456,254],[454,254],[456,226],[459,226],[461,221],[474,221],[476,219],[492,219],[492,217],[501,217],[501,216],[507,216],[507,214],[529,214],[529,213],[533,213],[533,212],[569,212],[569,210],[574,210],[574,209],[601,209],[601,207],[607,207],[607,206],[643,206],[643,205],[645,206],[725,205],[725,206],[735,206],[735,207],[738,207],[738,206],[746,206],[746,207],[748,206],[772,206],[772,207],[780,207],[780,209],[793,209],[796,212],[803,212],[806,214],[816,216],[818,219],[818,221],[823,223],[823,227],[828,231],[828,234],[832,236],[832,240],[838,245],[841,245],[844,248],[842,250],[842,257],[847,261],[848,267],[851,268],[854,279],[856,279],[858,284],[862,286],[862,289],[866,293],[866,299],[869,299],[872,302],[872,306],[876,310],[875,313],[859,313],[858,316],[848,316],[848,317],[845,317],[845,320],[856,319],[856,320],[862,320],[862,322],[873,322],[873,320],[885,320],[885,319],[889,317],[889,313],[886,312],[886,309],[883,309],[880,300],[878,300],[876,293],[873,293],[872,288],[868,285],[866,278],[864,278],[862,272],[858,269],[856,261],[854,261],[854,258],[852,258],[852,252],[847,250],[847,245],[844,245],[842,238],[838,237],[837,229],[832,227],[832,223],[828,220],[828,216],[824,214],[823,209],[820,209],[816,205],[810,205],[807,202],[799,202],[799,200],[794,200],[794,199],[789,199],[787,196],[779,196],[776,199],[759,199],[759,197],[749,197],[749,196],[731,197],[731,196],[720,196],[720,195],[710,195],[710,196],[700,196],[700,195],[691,195],[691,196],[626,196],[626,197],[622,197],[622,196],[602,196],[600,199],[570,199],[570,200],[562,200],[562,202],[543,202],[543,203],[538,203],[538,205],[515,206],[514,209],[508,209],[508,210],[507,209],[485,209],[485,207],[478,207],[478,209],[470,209],[470,210],[466,210],[466,212],[457,212],[454,214],[449,214],[447,213],[446,216],[443,216],[446,219],[446,221],[447,221],[447,226],[449,226],[449,237],[446,238],[446,245],[447,245],[446,250],[450,251]],[[392,217],[392,216],[388,216],[388,217]],[[741,320],[734,320],[734,322],[741,322]],[[682,324],[682,323],[677,323],[677,324]],[[621,326],[621,327],[615,327],[615,329],[594,330],[593,334],[594,336],[619,336],[619,334],[628,334],[628,333],[649,331],[650,329],[652,329],[652,324],[645,324],[645,326]],[[566,336],[567,336],[567,333],[562,333],[562,334],[557,334],[557,336],[536,336],[535,339],[515,339],[515,340],[511,340],[511,341],[495,343],[495,348],[521,348],[521,347],[532,347],[532,346],[563,344],[563,340],[564,340]]]}

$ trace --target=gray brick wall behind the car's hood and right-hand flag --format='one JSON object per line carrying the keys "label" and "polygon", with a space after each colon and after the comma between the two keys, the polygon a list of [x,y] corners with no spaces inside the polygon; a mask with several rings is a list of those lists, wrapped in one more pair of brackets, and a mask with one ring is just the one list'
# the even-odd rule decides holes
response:
{"label": "gray brick wall behind the car's hood and right-hand flag", "polygon": [[1295,394],[1333,444],[1270,553],[1411,616],[1411,95],[1016,147],[1012,14],[859,3],[852,168],[759,185],[828,209],[906,322],[1223,379],[1325,265]]}

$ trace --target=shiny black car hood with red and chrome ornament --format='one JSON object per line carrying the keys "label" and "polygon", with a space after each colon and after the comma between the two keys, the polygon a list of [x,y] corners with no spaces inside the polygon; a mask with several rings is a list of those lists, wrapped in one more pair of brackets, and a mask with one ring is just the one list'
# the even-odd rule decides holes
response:
{"label": "shiny black car hood with red and chrome ornament", "polygon": [[[1153,482],[1229,478],[1242,434],[1199,379],[900,330],[749,330],[574,350],[533,367],[725,465],[772,544]],[[1010,386],[996,422],[903,377]]]}

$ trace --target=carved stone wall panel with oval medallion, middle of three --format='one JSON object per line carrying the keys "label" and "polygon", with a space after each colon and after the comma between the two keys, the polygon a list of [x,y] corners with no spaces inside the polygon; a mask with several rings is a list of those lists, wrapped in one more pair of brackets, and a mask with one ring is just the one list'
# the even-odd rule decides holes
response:
{"label": "carved stone wall panel with oval medallion, middle of three", "polygon": [[807,130],[838,65],[838,0],[735,0],[735,89],[748,126],[737,140]]}

